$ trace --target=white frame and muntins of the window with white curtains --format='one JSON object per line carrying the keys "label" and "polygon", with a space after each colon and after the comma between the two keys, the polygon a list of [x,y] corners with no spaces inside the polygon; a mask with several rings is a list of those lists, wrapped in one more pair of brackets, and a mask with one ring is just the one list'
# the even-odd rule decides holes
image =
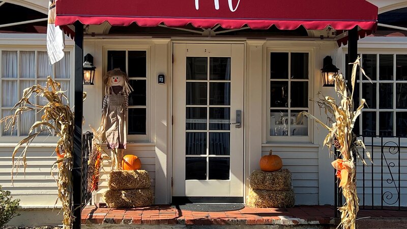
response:
{"label": "white frame and muntins of the window with white curtains", "polygon": [[[17,51],[17,78],[3,78],[3,51]],[[21,69],[20,69],[20,52],[21,51],[34,51],[35,52],[35,75],[34,78],[21,78]],[[69,106],[72,108],[73,107],[73,102],[74,102],[74,79],[75,79],[75,69],[72,63],[74,63],[74,50],[72,46],[66,46],[64,49],[65,52],[70,52],[70,78],[55,78],[55,73],[56,73],[56,67],[55,64],[52,65],[52,79],[56,79],[56,81],[69,81],[70,83],[70,88],[69,88]],[[46,77],[38,77],[38,52],[47,52],[46,46],[19,46],[19,45],[10,45],[10,46],[1,46],[0,47],[0,87],[2,87],[3,80],[17,80],[17,102],[19,99],[21,99],[20,91],[22,92],[23,89],[20,88],[20,82],[21,81],[34,81],[34,84],[37,84],[41,81],[46,81]],[[2,95],[0,95],[1,97]],[[12,107],[3,107],[2,104],[3,101],[0,101],[0,117],[3,117],[3,110],[10,110]],[[38,103],[38,99],[36,99],[36,103]],[[36,121],[40,119],[41,114],[36,113]],[[20,135],[20,122],[21,120],[18,119],[17,123],[17,135],[4,135],[4,124],[0,124],[0,138],[5,139],[3,142],[18,142],[25,138],[27,135]],[[34,124],[34,123],[33,123]],[[33,142],[55,142],[55,139],[57,139],[56,136],[53,135],[38,135],[36,139],[34,139]]]}

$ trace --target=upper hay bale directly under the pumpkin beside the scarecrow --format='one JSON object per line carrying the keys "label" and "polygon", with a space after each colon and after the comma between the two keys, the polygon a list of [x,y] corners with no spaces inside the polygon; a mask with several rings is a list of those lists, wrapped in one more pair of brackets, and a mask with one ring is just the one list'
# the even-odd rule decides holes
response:
{"label": "upper hay bale directly under the pumpkin beside the scarecrow", "polygon": [[146,170],[111,171],[107,183],[111,190],[150,188],[151,181]]}

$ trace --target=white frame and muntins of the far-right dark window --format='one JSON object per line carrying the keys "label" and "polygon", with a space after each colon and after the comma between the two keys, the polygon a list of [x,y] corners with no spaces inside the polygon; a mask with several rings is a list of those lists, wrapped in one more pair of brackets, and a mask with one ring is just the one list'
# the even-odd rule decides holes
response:
{"label": "white frame and muntins of the far-right dark window", "polygon": [[[346,66],[346,54],[347,51],[344,50],[343,54],[342,54],[342,66],[343,69],[345,71],[345,66]],[[377,48],[377,49],[359,49],[358,50],[358,55],[360,56],[360,61],[361,61],[361,65],[363,68],[363,54],[375,54],[376,55],[376,79],[372,80],[373,83],[376,85],[376,108],[368,108],[365,107],[362,109],[362,112],[360,114],[360,117],[358,118],[358,122],[359,122],[359,135],[363,135],[363,122],[362,122],[362,117],[363,117],[363,112],[375,112],[375,134],[373,136],[379,136],[380,135],[380,112],[392,112],[393,113],[393,134],[391,136],[386,136],[383,135],[383,137],[393,137],[393,136],[397,136],[397,120],[396,120],[396,113],[397,112],[407,112],[407,108],[397,108],[397,104],[396,104],[396,99],[397,99],[397,83],[405,83],[407,85],[407,80],[396,80],[396,55],[407,55],[407,49],[385,49],[385,48]],[[380,55],[392,55],[393,56],[393,79],[392,80],[380,80]],[[368,75],[369,76],[369,75]],[[359,97],[363,98],[363,83],[370,83],[370,81],[363,76],[362,72],[359,71],[359,76],[356,80],[356,83],[359,83],[359,88],[358,88],[358,92],[359,92]],[[378,95],[380,95],[380,83],[392,83],[392,88],[393,88],[393,108],[380,108],[380,99],[378,97]],[[359,99],[360,99],[359,98]],[[359,101],[358,101],[359,103]],[[359,105],[359,104],[358,104]],[[370,137],[370,136],[366,136],[366,137]]]}

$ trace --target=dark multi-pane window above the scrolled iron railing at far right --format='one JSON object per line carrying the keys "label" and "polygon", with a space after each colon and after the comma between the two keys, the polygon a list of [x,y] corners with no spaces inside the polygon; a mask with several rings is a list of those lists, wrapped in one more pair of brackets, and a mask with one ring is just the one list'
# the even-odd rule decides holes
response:
{"label": "dark multi-pane window above the scrolled iron railing at far right", "polygon": [[[407,136],[407,54],[370,52],[361,57],[372,82],[357,72],[356,96],[359,101],[361,95],[367,106],[354,132],[364,136]],[[345,55],[345,63],[347,60]]]}

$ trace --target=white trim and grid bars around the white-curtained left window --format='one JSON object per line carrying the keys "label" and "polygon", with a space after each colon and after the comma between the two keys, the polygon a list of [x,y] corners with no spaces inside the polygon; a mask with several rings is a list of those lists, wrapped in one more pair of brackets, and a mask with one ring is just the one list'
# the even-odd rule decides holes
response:
{"label": "white trim and grid bars around the white-curtained left window", "polygon": [[[37,75],[38,75],[38,69],[37,69],[37,67],[38,67],[38,65],[37,65],[37,56],[38,56],[38,52],[39,51],[47,51],[47,48],[46,48],[46,46],[44,46],[44,45],[41,45],[41,46],[33,46],[33,45],[18,45],[18,44],[11,44],[11,45],[8,45],[8,46],[0,46],[0,63],[2,63],[2,57],[3,57],[3,55],[2,55],[2,51],[17,51],[18,52],[18,54],[17,54],[17,65],[18,66],[20,66],[20,59],[18,58],[18,56],[19,56],[19,52],[20,51],[35,51],[35,65],[36,65],[36,72],[35,72],[35,78],[33,78],[33,79],[30,79],[30,78],[23,78],[24,80],[34,80],[35,81],[35,84],[37,84],[38,83],[38,81],[45,81],[45,80],[47,80],[47,78],[37,78]],[[72,63],[74,63],[74,49],[73,49],[73,47],[72,46],[66,46],[65,47],[65,49],[64,49],[64,51],[65,52],[70,52],[71,54],[70,54],[70,63],[71,63],[71,66],[70,66],[70,69],[71,69],[71,75],[70,75],[70,78],[69,79],[62,79],[62,81],[70,81],[70,98],[69,98],[69,106],[72,108],[73,106],[74,106],[74,104],[73,104],[73,102],[74,102],[74,87],[73,87],[73,85],[74,85],[74,79],[75,79],[75,75],[74,75],[74,72],[75,72],[75,69],[74,69],[74,66],[73,66],[73,64]],[[1,87],[1,85],[2,85],[2,80],[3,80],[3,66],[2,66],[2,64],[0,64],[0,87]],[[54,67],[54,65],[52,66],[52,74],[53,74],[53,79],[55,80],[55,67]],[[17,69],[17,81],[19,81],[20,80],[20,69],[18,68]],[[56,79],[56,81],[60,81],[60,78],[58,78],[58,79]],[[19,92],[20,92],[20,83],[17,83],[17,93],[18,93],[18,98],[17,98],[17,102],[21,99],[21,96],[22,95],[20,95],[19,94]],[[36,94],[34,94],[33,96],[35,96]],[[1,98],[1,94],[0,94],[0,98]],[[10,109],[10,108],[12,108],[12,107],[2,107],[2,101],[0,101],[0,117],[2,117],[2,111],[3,111],[3,109]],[[36,101],[36,103],[37,103],[37,101]],[[41,113],[39,113],[39,114],[36,114],[36,119],[38,120],[38,116],[41,116],[42,114]],[[19,121],[18,121],[18,123],[20,122],[20,119],[19,119]],[[2,144],[4,143],[4,144],[7,144],[7,143],[14,143],[14,142],[19,142],[20,140],[22,140],[23,138],[25,138],[26,136],[19,136],[20,135],[20,128],[18,127],[18,124],[17,123],[17,136],[10,136],[10,135],[3,135],[3,131],[4,131],[4,124],[0,124],[0,128],[1,128],[1,130],[0,130],[0,139],[2,139]],[[33,123],[34,124],[34,123]],[[56,137],[56,136],[48,136],[48,135],[38,135],[34,140],[33,140],[33,143],[34,142],[37,142],[37,143],[39,143],[39,142],[44,142],[44,143],[53,143],[53,142],[56,142],[56,140],[57,140],[58,138]]]}

